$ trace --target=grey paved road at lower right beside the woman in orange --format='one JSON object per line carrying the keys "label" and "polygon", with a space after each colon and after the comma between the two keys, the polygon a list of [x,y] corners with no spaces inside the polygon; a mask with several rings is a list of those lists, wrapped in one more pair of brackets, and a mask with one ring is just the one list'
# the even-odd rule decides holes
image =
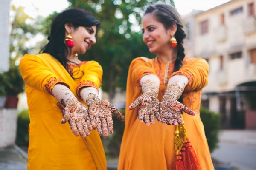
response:
{"label": "grey paved road at lower right beside the woman in orange", "polygon": [[256,170],[256,130],[223,130],[211,155],[237,170]]}

